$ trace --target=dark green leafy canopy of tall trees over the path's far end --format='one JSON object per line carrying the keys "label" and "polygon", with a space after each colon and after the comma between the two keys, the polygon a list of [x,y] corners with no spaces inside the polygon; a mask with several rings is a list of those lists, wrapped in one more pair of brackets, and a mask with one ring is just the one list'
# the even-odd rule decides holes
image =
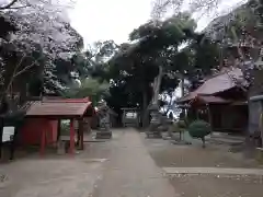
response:
{"label": "dark green leafy canopy of tall trees over the path's far end", "polygon": [[152,84],[160,67],[163,73],[158,94],[172,93],[182,76],[194,81],[197,73],[199,78],[208,74],[218,66],[218,45],[196,34],[195,27],[188,13],[179,13],[135,28],[130,43],[122,44],[98,72],[111,81],[108,104],[116,112],[127,106],[145,111],[152,100]]}

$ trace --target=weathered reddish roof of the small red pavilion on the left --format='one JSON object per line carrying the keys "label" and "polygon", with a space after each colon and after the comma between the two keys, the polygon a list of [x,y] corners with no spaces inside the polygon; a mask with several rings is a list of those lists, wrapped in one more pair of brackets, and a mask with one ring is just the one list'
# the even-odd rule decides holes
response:
{"label": "weathered reddish roof of the small red pavilion on the left", "polygon": [[91,106],[89,99],[46,100],[34,102],[26,112],[26,116],[83,116]]}

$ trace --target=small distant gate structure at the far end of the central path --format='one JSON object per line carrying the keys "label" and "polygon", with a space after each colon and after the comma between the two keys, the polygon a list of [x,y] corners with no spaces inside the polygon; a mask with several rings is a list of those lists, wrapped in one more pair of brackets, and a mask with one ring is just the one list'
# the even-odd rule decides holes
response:
{"label": "small distant gate structure at the far end of the central path", "polygon": [[123,126],[133,126],[133,127],[139,127],[139,109],[138,108],[122,108],[123,111]]}

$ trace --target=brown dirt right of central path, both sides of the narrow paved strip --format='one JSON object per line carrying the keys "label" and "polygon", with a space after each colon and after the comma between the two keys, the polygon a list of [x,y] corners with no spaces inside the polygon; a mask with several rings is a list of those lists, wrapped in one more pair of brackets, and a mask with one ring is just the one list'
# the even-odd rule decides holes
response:
{"label": "brown dirt right of central path, both sides of the narrow paved strip", "polygon": [[[168,140],[145,139],[151,158],[160,167],[262,167],[226,146],[179,146]],[[185,197],[262,197],[263,177],[249,175],[167,175],[174,189]]]}

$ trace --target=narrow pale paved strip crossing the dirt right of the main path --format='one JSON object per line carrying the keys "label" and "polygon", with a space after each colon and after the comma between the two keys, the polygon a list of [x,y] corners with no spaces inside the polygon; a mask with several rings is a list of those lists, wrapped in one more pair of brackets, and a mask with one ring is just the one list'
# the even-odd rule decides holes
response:
{"label": "narrow pale paved strip crossing the dirt right of the main path", "polygon": [[163,167],[167,174],[229,174],[263,175],[262,169],[224,169],[224,167]]}

